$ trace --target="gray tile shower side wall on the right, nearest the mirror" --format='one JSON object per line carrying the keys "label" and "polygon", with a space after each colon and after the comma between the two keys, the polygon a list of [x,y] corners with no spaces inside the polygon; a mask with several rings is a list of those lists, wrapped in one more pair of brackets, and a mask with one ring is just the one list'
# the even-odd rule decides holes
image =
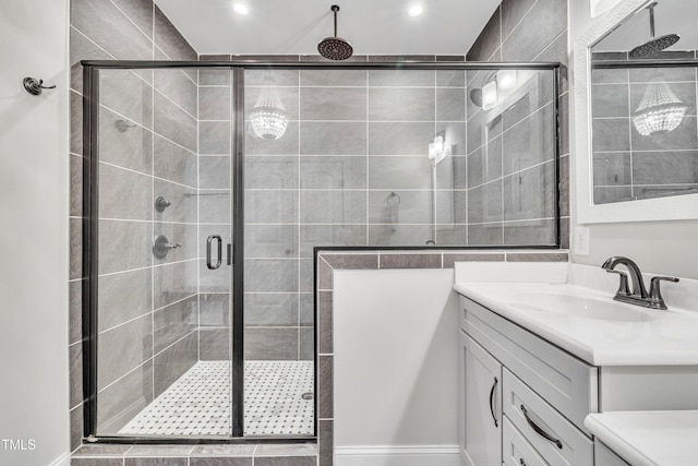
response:
{"label": "gray tile shower side wall on the right, nearest the mirror", "polygon": [[[567,34],[565,0],[504,0],[466,55],[467,61],[563,64],[558,116],[563,248],[569,244]],[[554,205],[549,196],[555,180],[553,140],[543,136],[543,144],[535,145],[530,138],[534,132],[550,134],[547,130],[554,124],[551,77],[550,73],[531,76],[519,72],[517,81],[526,83],[524,89],[528,95],[515,93],[498,107],[484,111],[473,104],[470,95],[494,76],[488,72],[468,75],[468,207],[472,214],[469,244],[541,244],[554,240],[551,236]]]}

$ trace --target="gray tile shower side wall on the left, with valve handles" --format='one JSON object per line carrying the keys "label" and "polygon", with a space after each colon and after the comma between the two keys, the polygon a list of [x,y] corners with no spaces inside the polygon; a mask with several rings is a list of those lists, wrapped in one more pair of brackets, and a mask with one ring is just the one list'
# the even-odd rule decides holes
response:
{"label": "gray tile shower side wall on the left, with valve handles", "polygon": [[[71,444],[82,438],[82,67],[85,59],[195,60],[152,1],[72,0]],[[181,71],[100,80],[99,378],[101,433],[118,431],[197,360],[197,83]],[[172,206],[153,208],[164,194]],[[151,252],[165,234],[182,248]],[[176,357],[173,357],[176,355]]]}

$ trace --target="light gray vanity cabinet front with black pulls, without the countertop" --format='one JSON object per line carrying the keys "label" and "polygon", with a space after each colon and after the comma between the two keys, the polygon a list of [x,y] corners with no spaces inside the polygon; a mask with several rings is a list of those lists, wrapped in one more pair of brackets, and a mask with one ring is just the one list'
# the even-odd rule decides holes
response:
{"label": "light gray vanity cabinet front with black pulls, without the countertop", "polygon": [[468,466],[593,465],[583,427],[598,369],[460,298],[460,432]]}

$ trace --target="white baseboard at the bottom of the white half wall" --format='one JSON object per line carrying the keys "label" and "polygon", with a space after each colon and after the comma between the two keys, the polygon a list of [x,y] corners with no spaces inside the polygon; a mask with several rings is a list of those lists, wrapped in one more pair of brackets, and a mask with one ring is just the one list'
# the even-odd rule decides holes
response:
{"label": "white baseboard at the bottom of the white half wall", "polygon": [[335,447],[335,466],[462,466],[458,445]]}

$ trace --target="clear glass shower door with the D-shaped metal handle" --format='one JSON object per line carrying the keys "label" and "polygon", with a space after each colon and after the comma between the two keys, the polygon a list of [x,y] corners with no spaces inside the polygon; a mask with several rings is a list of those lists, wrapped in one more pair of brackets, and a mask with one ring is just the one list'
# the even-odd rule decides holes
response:
{"label": "clear glass shower door with the D-shaped metal handle", "polygon": [[99,72],[98,435],[230,435],[231,94],[229,70]]}

